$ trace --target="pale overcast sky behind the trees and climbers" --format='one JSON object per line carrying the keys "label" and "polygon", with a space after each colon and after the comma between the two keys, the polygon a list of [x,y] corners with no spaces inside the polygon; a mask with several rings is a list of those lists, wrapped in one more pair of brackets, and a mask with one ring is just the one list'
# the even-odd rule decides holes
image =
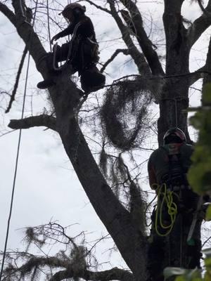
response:
{"label": "pale overcast sky behind the trees and climbers", "polygon": [[[61,2],[64,3],[64,1]],[[158,39],[156,37],[160,36],[159,30],[162,27],[162,22],[160,22],[158,16],[162,15],[162,6],[153,4],[151,1],[145,2],[145,4],[140,4],[141,11],[143,11],[143,20],[146,25],[149,25],[148,15],[151,11],[153,28],[158,28],[154,38]],[[95,1],[95,3],[101,4],[102,1]],[[96,36],[100,42],[101,60],[106,61],[115,48],[119,46],[116,41],[113,44],[113,41],[110,40],[120,37],[120,34],[115,22],[108,18],[108,15],[96,11],[93,7],[87,10],[87,15],[93,19]],[[189,19],[190,17],[195,18],[199,14],[199,8],[192,8],[188,4],[184,8],[184,15]],[[53,30],[51,34],[53,36]],[[207,39],[208,35],[205,35],[201,38],[200,43],[194,46],[194,52],[191,53],[193,61],[191,70],[195,70],[202,65],[207,48]],[[10,90],[13,89],[15,74],[24,45],[15,29],[2,14],[0,14],[0,41],[1,89]],[[59,41],[60,44],[61,42]],[[46,44],[46,48],[48,49],[49,45]],[[125,64],[125,57],[120,55],[106,69],[106,72],[109,74],[107,76],[107,83],[109,83],[124,74],[136,73],[136,67],[132,63]],[[32,112],[34,115],[40,114],[46,107],[45,91],[38,92],[36,89],[36,84],[40,79],[41,76],[35,70],[34,63],[31,60],[25,116],[30,116]],[[21,116],[20,109],[23,101],[24,84],[25,72],[20,79],[18,99],[15,101],[11,112],[4,115],[4,111],[1,110],[2,132],[4,132],[3,130],[9,119],[19,119]],[[33,97],[31,97],[32,94]],[[191,98],[191,105],[197,105],[199,100],[200,96],[196,91]],[[1,100],[1,102],[2,105],[5,105],[4,100]],[[32,103],[33,107],[31,106]],[[18,131],[15,131],[0,138],[0,249],[4,249],[18,133]],[[143,171],[143,174],[146,176],[146,171]],[[23,232],[19,230],[20,228],[41,225],[48,223],[50,220],[58,221],[62,226],[78,223],[72,226],[70,235],[77,235],[84,230],[87,232],[87,241],[93,241],[96,237],[107,234],[106,229],[96,216],[91,204],[89,204],[89,200],[72,170],[57,134],[51,130],[44,131],[44,128],[23,130],[8,249],[23,247],[20,244],[23,239]],[[106,247],[112,247],[111,243],[107,243],[98,246],[98,259],[101,262],[111,259],[113,266],[124,266],[117,252],[111,258],[108,256],[108,252],[105,253]],[[106,264],[107,266],[110,265]]]}

